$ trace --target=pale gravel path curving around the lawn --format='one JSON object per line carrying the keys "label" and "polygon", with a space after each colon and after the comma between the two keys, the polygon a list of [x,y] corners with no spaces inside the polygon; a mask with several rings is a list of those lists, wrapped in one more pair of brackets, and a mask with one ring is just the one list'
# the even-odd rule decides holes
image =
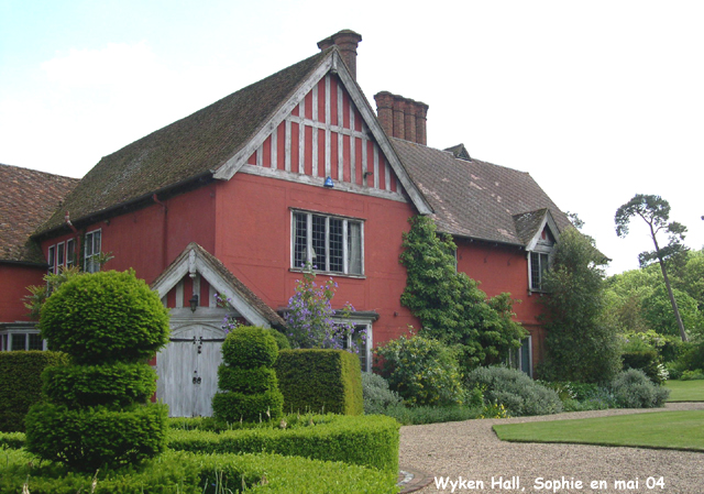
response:
{"label": "pale gravel path curving around the lawn", "polygon": [[[704,409],[704,403],[668,404],[668,410]],[[654,450],[640,448],[612,448],[585,444],[548,444],[503,442],[492,426],[539,420],[564,420],[573,418],[605,417],[609,415],[662,411],[657,409],[614,409],[603,411],[579,411],[540,417],[513,419],[466,420],[462,422],[405,426],[400,429],[402,469],[417,469],[430,477],[446,476],[457,482],[462,476],[479,483],[458,485],[455,493],[668,493],[704,494],[704,453]],[[704,427],[704,424],[702,425]],[[504,485],[492,488],[495,481],[512,481],[518,477],[518,486]],[[540,486],[537,479],[543,479]],[[582,481],[575,484],[559,484],[554,488],[548,481]],[[660,480],[664,488],[648,488],[648,477]],[[617,490],[614,481],[632,481],[632,488]],[[638,487],[635,481],[638,480]],[[592,481],[606,481],[607,488],[592,488]],[[651,481],[652,482],[652,481]],[[539,486],[541,488],[536,488]],[[433,481],[419,493],[453,492],[450,484],[438,488]]]}

